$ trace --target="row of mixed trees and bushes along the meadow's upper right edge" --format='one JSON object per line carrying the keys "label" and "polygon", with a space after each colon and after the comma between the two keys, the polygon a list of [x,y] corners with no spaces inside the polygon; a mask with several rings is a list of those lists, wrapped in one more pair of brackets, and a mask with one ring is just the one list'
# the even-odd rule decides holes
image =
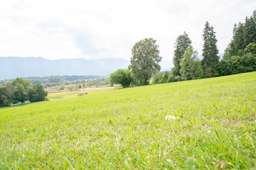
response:
{"label": "row of mixed trees and bushes along the meadow's upper right edge", "polygon": [[184,32],[174,44],[174,67],[170,72],[159,73],[161,57],[159,46],[153,38],[145,38],[132,48],[128,69],[119,69],[110,74],[110,84],[130,85],[219,77],[230,74],[256,71],[256,11],[245,23],[235,24],[233,38],[225,50],[223,59],[218,57],[217,38],[213,26],[206,21],[203,28],[203,60],[197,58],[191,39]]}

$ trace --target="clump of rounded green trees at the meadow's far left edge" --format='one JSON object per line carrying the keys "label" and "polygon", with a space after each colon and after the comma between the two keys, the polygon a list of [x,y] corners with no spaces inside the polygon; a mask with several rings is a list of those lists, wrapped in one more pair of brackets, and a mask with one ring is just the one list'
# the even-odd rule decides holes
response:
{"label": "clump of rounded green trees at the meadow's far left edge", "polygon": [[47,95],[41,84],[32,85],[27,79],[16,78],[0,87],[0,107],[26,101],[45,101]]}

